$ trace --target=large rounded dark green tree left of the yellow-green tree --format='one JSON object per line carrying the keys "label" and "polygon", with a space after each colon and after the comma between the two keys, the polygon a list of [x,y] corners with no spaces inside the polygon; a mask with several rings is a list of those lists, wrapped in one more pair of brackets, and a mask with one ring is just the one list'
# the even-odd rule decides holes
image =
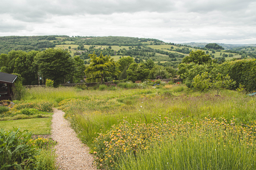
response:
{"label": "large rounded dark green tree left of the yellow-green tree", "polygon": [[74,62],[68,51],[49,48],[37,54],[36,63],[44,78],[54,81],[53,86],[65,83],[65,78],[74,72]]}

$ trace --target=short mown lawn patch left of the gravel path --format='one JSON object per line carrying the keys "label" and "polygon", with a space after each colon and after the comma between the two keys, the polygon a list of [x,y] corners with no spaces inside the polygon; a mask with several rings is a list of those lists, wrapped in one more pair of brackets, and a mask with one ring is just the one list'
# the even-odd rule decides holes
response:
{"label": "short mown lawn patch left of the gravel path", "polygon": [[52,118],[5,120],[0,121],[0,128],[13,130],[13,127],[15,127],[21,128],[21,130],[27,129],[34,135],[49,135],[51,124]]}

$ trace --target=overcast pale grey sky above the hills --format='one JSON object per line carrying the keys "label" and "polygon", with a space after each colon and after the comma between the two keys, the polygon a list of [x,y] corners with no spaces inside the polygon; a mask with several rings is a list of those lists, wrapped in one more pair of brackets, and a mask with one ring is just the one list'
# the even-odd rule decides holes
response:
{"label": "overcast pale grey sky above the hills", "polygon": [[256,43],[255,0],[3,0],[0,37],[123,36]]}

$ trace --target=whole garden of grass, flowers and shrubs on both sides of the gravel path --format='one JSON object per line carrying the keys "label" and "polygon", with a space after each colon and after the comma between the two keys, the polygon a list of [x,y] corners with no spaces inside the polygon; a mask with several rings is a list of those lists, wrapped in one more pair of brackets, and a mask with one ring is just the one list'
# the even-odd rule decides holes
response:
{"label": "whole garden of grass, flowers and shrubs on both sides of the gravel path", "polygon": [[179,65],[182,82],[134,83],[128,68],[127,79],[26,88],[20,100],[2,101],[1,169],[58,168],[53,108],[65,112],[99,169],[255,169],[255,60],[201,60]]}

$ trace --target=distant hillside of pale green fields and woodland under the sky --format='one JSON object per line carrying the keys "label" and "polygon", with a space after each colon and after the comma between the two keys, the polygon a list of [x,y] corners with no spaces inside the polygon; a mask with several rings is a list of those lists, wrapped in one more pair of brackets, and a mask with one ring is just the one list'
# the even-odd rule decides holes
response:
{"label": "distant hillside of pale green fields and woodland under the sky", "polygon": [[[49,36],[9,36],[0,37],[0,54],[7,54],[11,50],[43,51],[46,48],[61,48],[68,50],[70,56],[80,56],[87,64],[89,54],[95,52],[100,55],[111,55],[117,61],[122,56],[132,56],[136,62],[152,59],[162,66],[177,67],[184,56],[196,50],[203,50],[218,62],[225,62],[235,58],[255,57],[253,47],[239,47],[231,44],[219,44],[226,50],[207,49],[208,43],[164,43],[159,39],[135,37],[69,37],[67,35]],[[233,47],[231,49],[231,47]],[[227,50],[229,49],[229,50]]]}

